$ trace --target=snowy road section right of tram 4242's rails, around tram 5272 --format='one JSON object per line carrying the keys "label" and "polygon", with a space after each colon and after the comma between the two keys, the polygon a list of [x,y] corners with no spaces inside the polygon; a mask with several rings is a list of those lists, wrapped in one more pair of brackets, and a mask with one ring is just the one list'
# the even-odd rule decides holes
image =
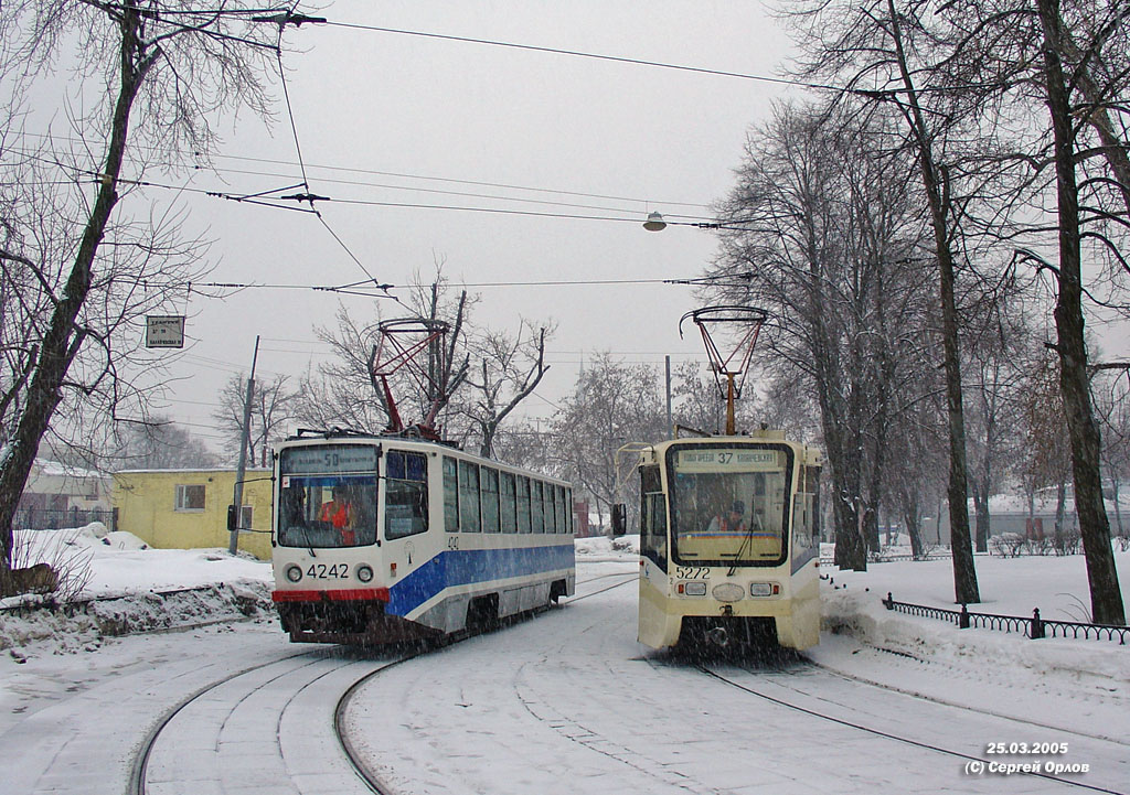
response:
{"label": "snowy road section right of tram 4242's rails, around tram 5272", "polygon": [[[635,604],[632,582],[390,671],[350,710],[353,734],[406,794],[1077,789],[965,772],[993,761],[991,742],[1035,741],[1067,742],[1054,759],[1090,766],[1063,776],[1076,785],[1130,790],[1125,744],[885,690],[805,659],[709,665],[719,679],[645,654],[633,639]],[[826,665],[858,650],[838,648]],[[870,673],[883,678],[875,664]]]}

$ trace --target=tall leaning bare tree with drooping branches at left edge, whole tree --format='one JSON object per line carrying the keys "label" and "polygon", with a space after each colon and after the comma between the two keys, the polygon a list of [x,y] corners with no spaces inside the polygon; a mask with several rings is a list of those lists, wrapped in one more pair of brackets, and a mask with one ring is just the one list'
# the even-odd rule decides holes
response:
{"label": "tall leaning bare tree with drooping branches at left edge, whole tree", "polygon": [[[79,73],[104,86],[103,102],[75,120],[80,142],[73,155],[58,152],[51,160],[64,163],[70,178],[63,182],[80,190],[36,202],[28,212],[40,226],[27,217],[5,219],[16,229],[6,245],[23,245],[6,250],[3,261],[32,269],[45,297],[26,302],[42,307],[36,309],[42,321],[38,339],[24,346],[24,373],[14,379],[26,386],[0,461],[0,577],[10,568],[17,500],[59,407],[76,393],[107,395],[113,405],[128,390],[113,338],[95,322],[106,308],[120,315],[123,305],[136,309],[140,303],[140,283],[116,281],[114,267],[129,260],[148,273],[157,263],[184,262],[190,253],[175,237],[138,235],[137,227],[131,234],[128,225],[114,231],[119,203],[141,181],[140,152],[157,160],[175,160],[185,149],[207,157],[214,139],[209,120],[218,113],[241,106],[268,112],[262,75],[275,68],[279,27],[257,20],[250,7],[232,2],[198,10],[176,0],[12,0],[0,7],[6,32],[0,70],[17,84],[10,96],[18,98],[29,80],[49,72],[70,43],[77,45]],[[33,246],[33,234],[44,226],[53,229],[51,241]],[[105,305],[94,300],[98,295],[107,297]]]}

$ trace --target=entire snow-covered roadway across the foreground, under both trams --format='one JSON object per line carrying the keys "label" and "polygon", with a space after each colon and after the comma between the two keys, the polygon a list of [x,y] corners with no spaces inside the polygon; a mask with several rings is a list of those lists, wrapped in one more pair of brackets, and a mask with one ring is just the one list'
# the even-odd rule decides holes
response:
{"label": "entire snow-covered roadway across the foreground, under both trams", "polygon": [[[631,556],[582,560],[564,608],[367,680],[344,716],[365,766],[400,795],[1130,793],[1116,685],[829,635],[808,658],[699,666],[635,643],[637,568]],[[1020,654],[1032,643],[965,637]],[[150,794],[367,792],[334,709],[393,658],[294,646],[258,621],[8,665],[0,793],[129,793],[151,736]],[[988,754],[990,743],[1068,750]],[[980,760],[1088,771],[967,774]]]}

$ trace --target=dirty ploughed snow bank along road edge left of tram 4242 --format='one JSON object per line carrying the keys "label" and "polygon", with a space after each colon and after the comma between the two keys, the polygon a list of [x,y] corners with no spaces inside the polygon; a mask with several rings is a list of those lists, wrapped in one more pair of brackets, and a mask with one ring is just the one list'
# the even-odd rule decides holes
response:
{"label": "dirty ploughed snow bank along road edge left of tram 4242", "polygon": [[273,611],[270,592],[270,583],[241,579],[66,604],[24,599],[0,608],[0,649],[11,649],[11,656],[20,659],[19,648],[43,641],[61,643],[64,652],[90,650],[106,637],[259,618]]}

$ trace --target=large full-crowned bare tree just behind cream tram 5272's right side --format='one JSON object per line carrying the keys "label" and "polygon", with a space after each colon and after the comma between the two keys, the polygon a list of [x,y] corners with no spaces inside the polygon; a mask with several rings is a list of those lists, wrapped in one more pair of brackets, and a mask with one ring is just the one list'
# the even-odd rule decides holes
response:
{"label": "large full-crowned bare tree just behind cream tram 5272's right side", "polygon": [[857,569],[867,565],[867,538],[877,544],[887,429],[899,379],[911,376],[906,350],[932,316],[914,255],[921,203],[909,198],[906,159],[883,148],[897,140],[887,125],[842,107],[776,108],[750,136],[711,271],[716,294],[768,312],[768,372],[816,395],[836,562]]}

